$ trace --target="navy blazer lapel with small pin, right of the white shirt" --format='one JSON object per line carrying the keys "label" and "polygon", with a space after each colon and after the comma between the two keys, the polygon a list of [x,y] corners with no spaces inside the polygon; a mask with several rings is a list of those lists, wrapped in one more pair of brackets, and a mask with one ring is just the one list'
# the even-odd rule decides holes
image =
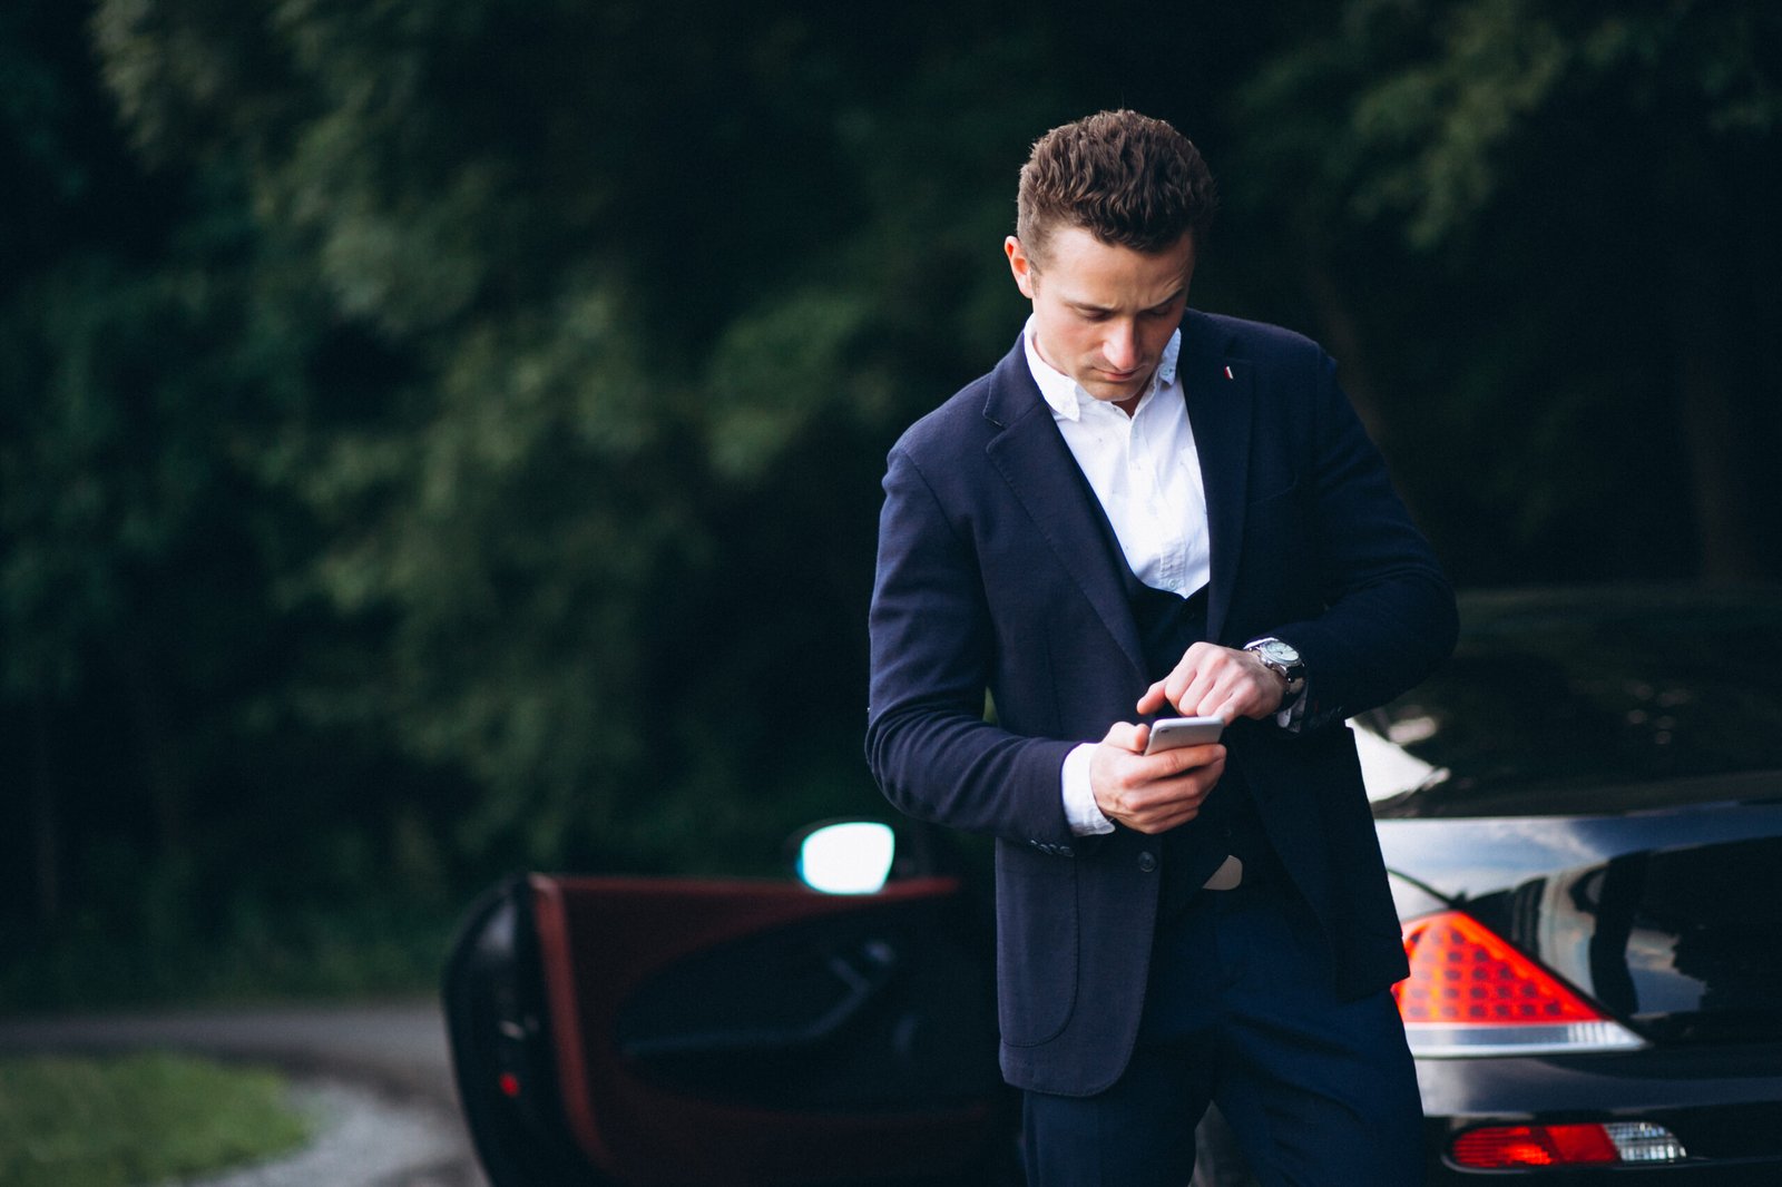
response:
{"label": "navy blazer lapel with small pin, right of the white shirt", "polygon": [[1176,374],[1189,401],[1194,451],[1201,458],[1201,483],[1206,488],[1206,533],[1212,549],[1206,636],[1215,642],[1231,608],[1244,542],[1255,383],[1246,362],[1226,358],[1224,344],[1224,335],[1194,314],[1183,319]]}

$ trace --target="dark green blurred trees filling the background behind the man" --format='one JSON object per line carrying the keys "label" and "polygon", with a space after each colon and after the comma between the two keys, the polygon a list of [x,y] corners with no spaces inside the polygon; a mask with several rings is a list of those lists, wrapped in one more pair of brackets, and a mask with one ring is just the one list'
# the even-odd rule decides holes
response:
{"label": "dark green blurred trees filling the background behind the man", "polygon": [[884,451],[1101,107],[1459,583],[1782,577],[1773,5],[1155,7],[0,9],[0,1003],[401,982],[495,872],[879,811]]}

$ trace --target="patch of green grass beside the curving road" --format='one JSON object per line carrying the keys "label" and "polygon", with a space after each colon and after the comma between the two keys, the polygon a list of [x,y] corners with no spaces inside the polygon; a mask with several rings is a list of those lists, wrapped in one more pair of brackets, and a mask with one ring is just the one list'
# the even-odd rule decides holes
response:
{"label": "patch of green grass beside the curving road", "polygon": [[0,1187],[132,1187],[301,1146],[276,1073],[185,1055],[0,1059]]}

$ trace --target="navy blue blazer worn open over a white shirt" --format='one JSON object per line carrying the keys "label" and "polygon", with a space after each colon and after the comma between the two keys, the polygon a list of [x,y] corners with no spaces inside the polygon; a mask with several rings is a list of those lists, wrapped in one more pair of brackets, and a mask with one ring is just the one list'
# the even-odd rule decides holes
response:
{"label": "navy blue blazer worn open over a white shirt", "polygon": [[[1360,996],[1406,964],[1342,722],[1449,654],[1454,595],[1317,344],[1190,310],[1178,374],[1206,488],[1208,634],[1279,636],[1310,681],[1304,729],[1235,722],[1228,763],[1319,914],[1338,991]],[[1139,1030],[1164,847],[1073,836],[1060,766],[1135,720],[1164,672],[1146,670],[1101,510],[1019,340],[903,433],[884,490],[868,763],[911,816],[996,838],[1003,1075],[1098,1093]]]}

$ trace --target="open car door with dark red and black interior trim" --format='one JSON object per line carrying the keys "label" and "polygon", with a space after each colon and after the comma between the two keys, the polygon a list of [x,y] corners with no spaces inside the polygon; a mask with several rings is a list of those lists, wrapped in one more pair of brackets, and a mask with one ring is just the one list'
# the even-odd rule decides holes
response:
{"label": "open car door with dark red and black interior trim", "polygon": [[952,877],[531,875],[472,913],[447,1012],[495,1187],[989,1183],[991,977]]}

